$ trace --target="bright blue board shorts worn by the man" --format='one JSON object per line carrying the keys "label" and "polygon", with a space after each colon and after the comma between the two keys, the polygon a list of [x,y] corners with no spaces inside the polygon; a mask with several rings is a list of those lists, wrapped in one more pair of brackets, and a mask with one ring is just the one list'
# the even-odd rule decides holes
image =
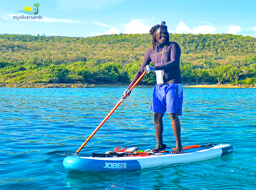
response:
{"label": "bright blue board shorts worn by the man", "polygon": [[155,85],[149,109],[159,114],[181,115],[183,102],[182,84]]}

